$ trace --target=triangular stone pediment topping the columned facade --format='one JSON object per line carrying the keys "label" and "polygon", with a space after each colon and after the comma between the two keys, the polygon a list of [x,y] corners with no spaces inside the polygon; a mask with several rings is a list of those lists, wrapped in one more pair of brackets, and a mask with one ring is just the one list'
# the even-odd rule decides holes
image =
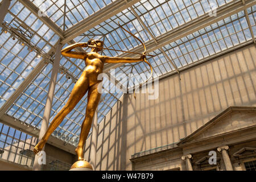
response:
{"label": "triangular stone pediment topping the columned facade", "polygon": [[256,107],[228,107],[177,145],[256,126]]}

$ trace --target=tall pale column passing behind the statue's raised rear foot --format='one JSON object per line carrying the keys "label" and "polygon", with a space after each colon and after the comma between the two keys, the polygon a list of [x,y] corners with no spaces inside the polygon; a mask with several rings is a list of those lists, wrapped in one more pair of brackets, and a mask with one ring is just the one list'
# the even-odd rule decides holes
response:
{"label": "tall pale column passing behind the statue's raised rear foot", "polygon": [[[60,51],[61,51],[62,46],[63,46],[62,44],[59,44],[56,48],[55,60],[54,60],[54,64],[52,67],[51,80],[49,82],[48,97],[47,97],[47,101],[46,101],[46,107],[44,109],[44,115],[43,115],[43,119],[42,119],[41,129],[40,129],[40,133],[39,133],[39,141],[43,138],[44,134],[46,133],[46,131],[48,129],[48,125],[49,125],[49,117],[50,117],[51,109],[52,109],[53,94],[54,94],[56,80],[57,80],[57,73],[59,72],[59,67],[60,67],[60,58],[61,58]],[[44,151],[44,148],[42,151]],[[40,159],[40,156],[35,155],[35,161],[34,161],[34,166],[33,166],[34,171],[41,170],[41,164],[39,163],[39,159]]]}

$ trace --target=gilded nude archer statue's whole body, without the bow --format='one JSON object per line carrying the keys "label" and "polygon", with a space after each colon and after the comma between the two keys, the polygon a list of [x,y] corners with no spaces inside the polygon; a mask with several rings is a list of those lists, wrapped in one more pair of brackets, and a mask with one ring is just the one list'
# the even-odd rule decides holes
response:
{"label": "gilded nude archer statue's whole body, without the bow", "polygon": [[[46,134],[44,134],[40,142],[36,144],[34,148],[35,154],[38,154],[39,151],[43,149],[52,132],[57,128],[57,126],[60,125],[65,116],[74,109],[77,103],[88,91],[88,104],[86,107],[85,119],[84,122],[82,122],[79,144],[76,148],[78,160],[84,160],[83,150],[85,140],[88,137],[90,127],[92,126],[93,115],[101,98],[101,94],[98,92],[98,85],[100,84],[101,80],[98,80],[97,78],[98,75],[103,72],[104,63],[134,63],[143,61],[145,58],[144,55],[138,58],[102,56],[98,52],[102,50],[103,44],[104,43],[101,40],[90,39],[88,43],[76,43],[64,48],[61,51],[63,56],[85,60],[86,68],[84,72],[82,72],[79,80],[76,82],[67,104],[65,104],[59,113],[57,113],[55,118],[53,118],[51,125],[49,125],[48,130],[46,131]],[[88,53],[71,51],[76,47],[91,47],[92,51]]]}

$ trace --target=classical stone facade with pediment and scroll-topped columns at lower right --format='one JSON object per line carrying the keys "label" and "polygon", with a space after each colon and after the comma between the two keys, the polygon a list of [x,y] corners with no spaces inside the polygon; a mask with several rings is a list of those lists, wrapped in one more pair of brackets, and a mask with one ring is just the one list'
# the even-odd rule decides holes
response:
{"label": "classical stone facade with pediment and scroll-topped columns at lower right", "polygon": [[[131,162],[135,170],[245,170],[245,162],[256,160],[255,133],[256,107],[229,107],[175,147]],[[209,163],[210,151],[216,164]]]}

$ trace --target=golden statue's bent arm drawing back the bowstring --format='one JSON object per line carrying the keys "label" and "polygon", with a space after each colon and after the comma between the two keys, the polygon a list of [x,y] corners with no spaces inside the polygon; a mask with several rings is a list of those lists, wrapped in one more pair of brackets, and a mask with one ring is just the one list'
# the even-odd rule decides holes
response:
{"label": "golden statue's bent arm drawing back the bowstring", "polygon": [[87,46],[88,46],[87,43],[76,43],[71,46],[65,47],[61,51],[61,54],[63,56],[72,57],[72,58],[76,58],[76,59],[85,59],[87,56],[86,52],[77,52],[77,51],[75,52],[75,51],[71,51],[71,50],[76,47],[87,47]]}

